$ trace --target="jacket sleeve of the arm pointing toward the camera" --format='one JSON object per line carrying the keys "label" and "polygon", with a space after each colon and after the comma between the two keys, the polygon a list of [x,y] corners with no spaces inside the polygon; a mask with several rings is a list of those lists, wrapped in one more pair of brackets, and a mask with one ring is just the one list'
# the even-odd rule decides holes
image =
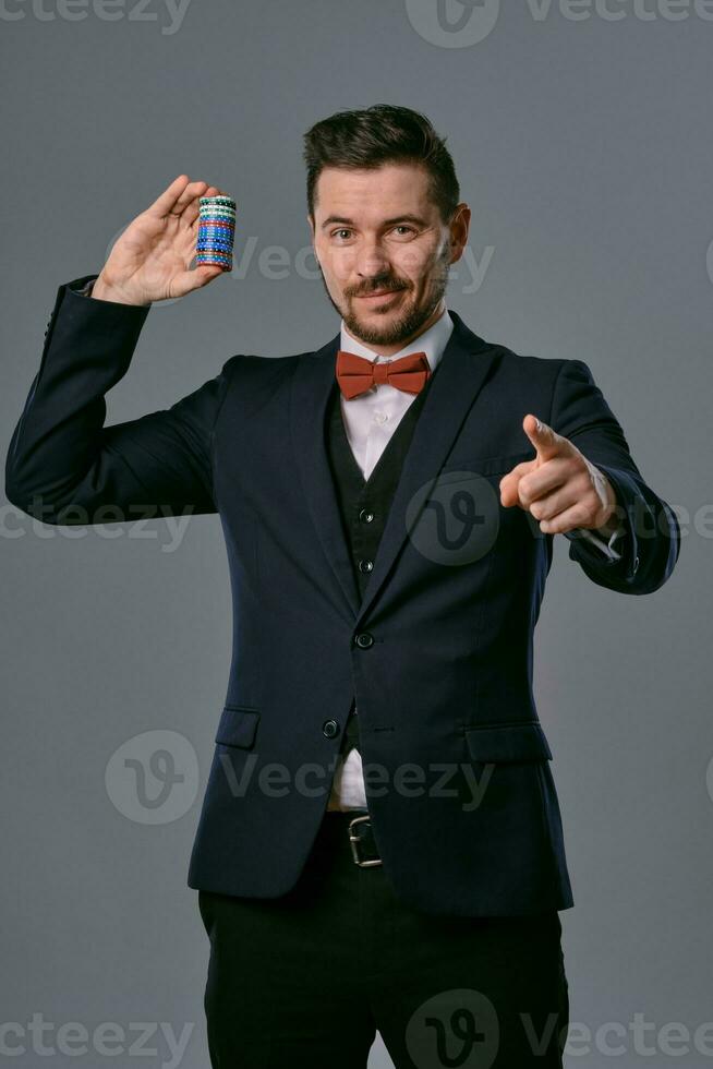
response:
{"label": "jacket sleeve of the arm pointing toward the camera", "polygon": [[[621,427],[582,360],[564,360],[555,381],[549,425],[569,439],[609,480],[625,532],[618,558],[569,538],[569,557],[590,579],[620,593],[652,593],[668,579],[680,551],[674,511],[646,485]],[[573,534],[573,532],[571,532]]]}

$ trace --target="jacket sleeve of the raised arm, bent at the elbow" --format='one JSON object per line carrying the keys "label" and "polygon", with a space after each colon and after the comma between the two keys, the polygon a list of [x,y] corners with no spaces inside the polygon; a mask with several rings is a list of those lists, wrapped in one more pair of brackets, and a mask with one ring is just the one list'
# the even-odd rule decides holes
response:
{"label": "jacket sleeve of the raised arm, bent at the elbow", "polygon": [[59,287],[45,346],[5,459],[5,494],[46,524],[215,513],[213,429],[231,357],[168,409],[105,427],[105,394],[129,369],[149,305]]}

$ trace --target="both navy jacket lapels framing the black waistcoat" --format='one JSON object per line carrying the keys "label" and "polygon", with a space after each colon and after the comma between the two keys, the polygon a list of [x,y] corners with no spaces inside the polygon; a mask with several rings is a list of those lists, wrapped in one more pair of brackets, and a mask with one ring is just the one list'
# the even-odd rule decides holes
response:
{"label": "both navy jacket lapels framing the black waistcoat", "polygon": [[[420,487],[438,475],[497,356],[497,350],[470,331],[456,312],[449,309],[449,314],[454,331],[415,424],[361,603],[327,459],[326,409],[335,383],[340,335],[299,360],[292,379],[290,427],[294,456],[317,537],[339,585],[340,608],[353,625],[371,608],[408,537],[409,502]],[[414,346],[418,347],[418,339]],[[413,526],[418,516],[410,517],[410,521]]]}

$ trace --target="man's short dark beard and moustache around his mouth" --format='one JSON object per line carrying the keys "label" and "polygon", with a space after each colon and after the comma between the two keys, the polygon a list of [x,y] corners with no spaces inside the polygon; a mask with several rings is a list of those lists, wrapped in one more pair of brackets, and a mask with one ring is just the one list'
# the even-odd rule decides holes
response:
{"label": "man's short dark beard and moustache around his mouth", "polygon": [[[346,327],[348,328],[349,333],[353,335],[353,337],[359,338],[359,340],[363,341],[364,345],[392,346],[398,345],[400,341],[406,345],[409,338],[416,335],[423,324],[433,314],[438,302],[446,292],[449,271],[449,249],[446,247],[443,254],[436,262],[423,304],[418,305],[413,299],[409,299],[407,296],[402,298],[402,307],[398,313],[394,313],[390,309],[384,309],[384,311],[380,313],[379,309],[374,309],[372,315],[383,314],[385,317],[389,316],[388,321],[383,325],[379,325],[377,321],[367,323],[365,319],[359,315],[359,313],[352,311],[351,298],[356,297],[353,291],[348,291],[345,293],[343,308],[337,304],[337,302],[333,299],[331,293],[327,289],[327,284],[325,283],[321,265],[319,277],[331,307],[345,321]],[[408,279],[398,278],[395,275],[379,275],[378,277],[372,279],[368,288],[363,287],[361,290],[359,290],[359,295],[363,296],[379,289],[401,290],[408,293],[411,288],[412,287]]]}

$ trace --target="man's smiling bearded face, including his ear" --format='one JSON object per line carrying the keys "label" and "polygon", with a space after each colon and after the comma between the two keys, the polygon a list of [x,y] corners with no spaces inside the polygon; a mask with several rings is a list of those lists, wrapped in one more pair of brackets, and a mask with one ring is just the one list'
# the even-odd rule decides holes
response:
{"label": "man's smiling bearded face, including his ear", "polygon": [[309,218],[327,296],[349,333],[385,356],[440,315],[448,268],[468,239],[470,209],[450,225],[428,200],[420,165],[326,167]]}

